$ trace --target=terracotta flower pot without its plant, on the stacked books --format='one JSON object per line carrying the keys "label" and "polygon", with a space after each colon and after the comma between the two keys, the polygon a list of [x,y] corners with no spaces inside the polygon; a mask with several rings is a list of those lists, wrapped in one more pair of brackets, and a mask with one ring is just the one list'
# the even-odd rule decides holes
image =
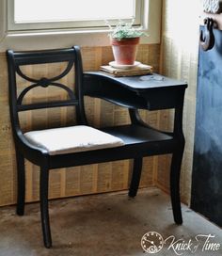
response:
{"label": "terracotta flower pot without its plant, on the stacked books", "polygon": [[118,65],[134,65],[139,38],[111,39],[114,59]]}

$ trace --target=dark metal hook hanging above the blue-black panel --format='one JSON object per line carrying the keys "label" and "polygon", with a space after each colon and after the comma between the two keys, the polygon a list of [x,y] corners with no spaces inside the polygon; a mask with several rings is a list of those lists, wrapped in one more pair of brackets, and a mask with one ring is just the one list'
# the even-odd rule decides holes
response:
{"label": "dark metal hook hanging above the blue-black panel", "polygon": [[204,32],[200,31],[199,43],[203,51],[211,50],[214,47],[214,20],[212,18],[204,19]]}

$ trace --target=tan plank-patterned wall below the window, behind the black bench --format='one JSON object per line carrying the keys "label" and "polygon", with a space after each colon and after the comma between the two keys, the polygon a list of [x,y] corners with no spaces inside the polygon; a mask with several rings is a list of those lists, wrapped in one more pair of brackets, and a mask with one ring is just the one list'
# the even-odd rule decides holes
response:
{"label": "tan plank-patterned wall below the window, behind the black bench", "polygon": [[[110,47],[84,47],[82,49],[83,63],[85,71],[96,71],[101,65],[107,64],[113,60]],[[137,60],[145,64],[152,65],[155,72],[159,72],[160,64],[160,45],[140,45],[137,54]],[[35,72],[51,73],[61,71],[64,67],[55,66],[50,69],[47,65],[44,68],[35,67]],[[32,75],[33,68],[27,67],[25,72]],[[65,82],[70,83],[68,78]],[[21,88],[23,81],[20,81]],[[48,96],[50,91],[48,92]],[[41,97],[40,93],[32,93],[29,95],[30,102],[38,101]],[[51,95],[51,97],[56,97]],[[62,96],[60,96],[62,97]],[[112,104],[105,103],[98,99],[86,99],[87,118],[89,122],[95,126],[103,126],[109,124],[124,124],[129,121],[128,113],[125,109]],[[0,53],[0,206],[13,204],[16,201],[16,168],[15,168],[15,152],[11,136],[11,128],[8,112],[8,71],[5,53]],[[38,110],[39,111],[39,110]],[[21,116],[24,130],[42,125],[64,125],[71,123],[71,110],[45,110],[43,114],[46,121],[43,121],[42,114],[38,111],[34,114],[30,112]],[[42,112],[41,112],[42,113]],[[69,115],[70,114],[70,115]],[[147,113],[141,111],[144,120],[156,127],[164,126],[168,123],[166,114],[159,112]],[[163,118],[163,121],[160,120]],[[157,162],[157,157],[147,157],[144,159],[143,174],[141,187],[153,186],[157,180],[158,167],[163,167],[162,163]],[[162,160],[161,160],[162,162]],[[26,166],[26,201],[39,200],[39,168],[31,165],[29,162]],[[164,168],[161,177],[166,176]],[[131,176],[132,162],[119,161],[113,163],[105,163],[100,165],[90,165],[77,168],[66,168],[52,171],[50,175],[50,198],[71,197],[77,195],[86,195],[92,193],[101,193],[108,191],[117,191],[127,189]]]}

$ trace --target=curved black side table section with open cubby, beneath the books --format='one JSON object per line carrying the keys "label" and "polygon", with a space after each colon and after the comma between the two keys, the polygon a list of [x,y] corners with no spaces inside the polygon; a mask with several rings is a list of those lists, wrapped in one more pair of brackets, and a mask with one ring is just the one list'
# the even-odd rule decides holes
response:
{"label": "curved black side table section with open cubby, beneath the books", "polygon": [[187,83],[157,73],[114,77],[106,72],[84,73],[84,94],[137,109],[167,109],[183,104]]}

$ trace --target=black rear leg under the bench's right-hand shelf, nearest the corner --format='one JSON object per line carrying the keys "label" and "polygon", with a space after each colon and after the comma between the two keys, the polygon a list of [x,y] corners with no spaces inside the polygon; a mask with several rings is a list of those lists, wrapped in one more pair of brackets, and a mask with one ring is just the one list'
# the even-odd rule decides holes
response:
{"label": "black rear leg under the bench's right-hand shelf, nearest the corner", "polygon": [[140,177],[141,177],[141,171],[142,171],[142,164],[143,164],[143,158],[135,158],[134,159],[134,169],[129,189],[129,197],[134,198],[137,194]]}

